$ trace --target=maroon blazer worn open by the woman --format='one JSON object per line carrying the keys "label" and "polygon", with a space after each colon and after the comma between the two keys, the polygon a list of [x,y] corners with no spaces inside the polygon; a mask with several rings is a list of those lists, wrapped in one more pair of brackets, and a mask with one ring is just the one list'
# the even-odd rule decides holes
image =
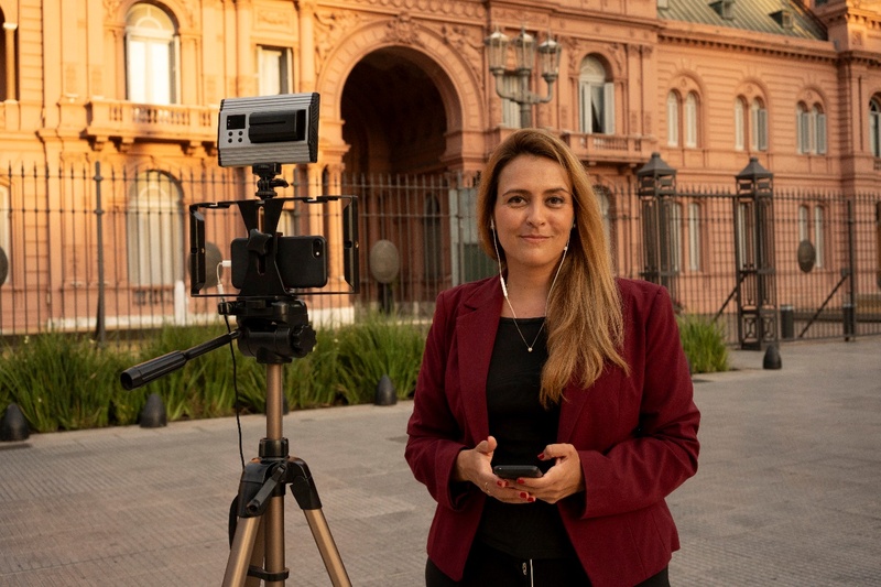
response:
{"label": "maroon blazer worn open by the woman", "polygon": [[[670,295],[617,283],[630,374],[608,366],[588,389],[573,378],[557,433],[578,449],[587,488],[557,507],[597,587],[630,587],[670,563],[679,542],[664,498],[695,474],[698,454],[700,414]],[[456,580],[488,498],[453,471],[459,450],[489,435],[486,382],[502,303],[498,278],[437,297],[407,424],[406,460],[437,501],[428,556]]]}

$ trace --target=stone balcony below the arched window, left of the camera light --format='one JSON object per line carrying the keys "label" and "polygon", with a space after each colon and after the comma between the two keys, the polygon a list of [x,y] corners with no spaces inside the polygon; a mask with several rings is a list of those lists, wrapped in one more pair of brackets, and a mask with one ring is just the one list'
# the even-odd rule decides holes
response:
{"label": "stone balcony below the arched window, left of the camera light", "polygon": [[96,149],[113,141],[121,150],[139,139],[217,146],[217,109],[206,106],[134,104],[93,99],[86,105],[86,137]]}

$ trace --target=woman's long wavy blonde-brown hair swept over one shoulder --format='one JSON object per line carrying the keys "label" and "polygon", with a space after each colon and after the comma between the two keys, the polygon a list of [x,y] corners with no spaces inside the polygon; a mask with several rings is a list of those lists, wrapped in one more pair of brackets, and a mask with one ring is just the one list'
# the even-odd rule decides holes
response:
{"label": "woman's long wavy blonde-brown hair swept over one shoulder", "polygon": [[602,226],[602,213],[584,165],[563,141],[547,131],[522,129],[508,137],[492,153],[477,194],[477,228],[480,246],[507,270],[504,250],[490,219],[499,192],[499,174],[519,155],[535,155],[559,163],[573,186],[575,229],[566,260],[547,301],[547,362],[542,370],[542,404],[559,403],[573,377],[583,388],[602,373],[607,361],[629,371],[621,356],[623,317],[614,283],[611,252]]}

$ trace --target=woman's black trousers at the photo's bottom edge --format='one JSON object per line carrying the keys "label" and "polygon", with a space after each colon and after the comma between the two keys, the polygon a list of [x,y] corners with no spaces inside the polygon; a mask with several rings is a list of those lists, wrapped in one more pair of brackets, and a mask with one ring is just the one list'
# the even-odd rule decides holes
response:
{"label": "woman's black trousers at the photo's bottom edge", "polygon": [[[577,558],[524,561],[475,543],[460,581],[446,576],[429,558],[425,565],[426,587],[589,587],[590,579]],[[670,587],[667,569],[637,587]]]}

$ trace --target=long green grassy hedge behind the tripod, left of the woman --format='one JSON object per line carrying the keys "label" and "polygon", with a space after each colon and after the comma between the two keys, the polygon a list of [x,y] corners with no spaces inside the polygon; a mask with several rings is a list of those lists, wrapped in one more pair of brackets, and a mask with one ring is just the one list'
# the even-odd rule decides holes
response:
{"label": "long green grassy hedge behind the tripod, left of the woman", "polygon": [[[26,337],[0,352],[0,415],[15,403],[35,432],[55,432],[138,422],[146,398],[157,393],[170,421],[236,413],[236,388],[243,413],[265,410],[265,366],[222,347],[187,361],[139,389],[126,391],[120,373],[173,350],[186,350],[225,333],[216,327],[165,327],[140,351],[99,349],[84,336],[50,333]],[[425,329],[371,316],[357,325],[319,329],[312,352],[283,367],[289,407],[372,402],[388,374],[396,395],[412,394]]]}

